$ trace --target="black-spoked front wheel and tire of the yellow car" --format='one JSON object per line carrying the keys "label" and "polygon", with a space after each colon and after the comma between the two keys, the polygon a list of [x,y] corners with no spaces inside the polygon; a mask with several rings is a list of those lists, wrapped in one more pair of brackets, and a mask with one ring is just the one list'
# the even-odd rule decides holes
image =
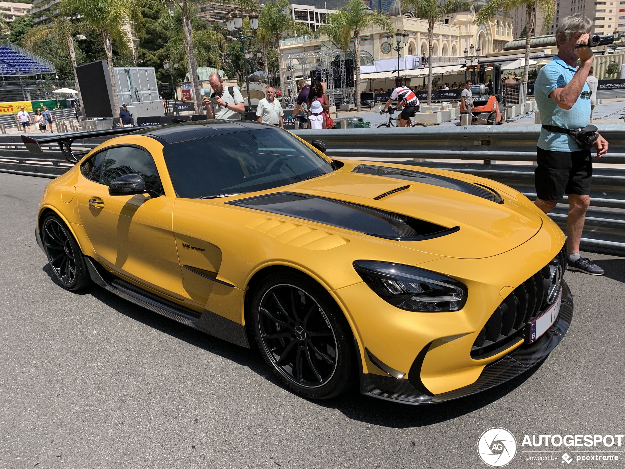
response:
{"label": "black-spoked front wheel and tire of the yellow car", "polygon": [[351,329],[311,278],[292,271],[267,276],[254,291],[251,317],[263,358],[286,386],[307,398],[329,399],[352,385]]}

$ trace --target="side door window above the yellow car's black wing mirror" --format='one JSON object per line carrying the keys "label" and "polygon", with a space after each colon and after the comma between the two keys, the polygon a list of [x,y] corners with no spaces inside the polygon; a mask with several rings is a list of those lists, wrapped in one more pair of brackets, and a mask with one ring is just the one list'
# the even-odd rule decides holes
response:
{"label": "side door window above the yellow car's black wing mirror", "polygon": [[100,183],[108,186],[113,179],[126,174],[139,174],[146,181],[146,189],[163,193],[156,164],[148,152],[132,146],[109,148],[104,158]]}

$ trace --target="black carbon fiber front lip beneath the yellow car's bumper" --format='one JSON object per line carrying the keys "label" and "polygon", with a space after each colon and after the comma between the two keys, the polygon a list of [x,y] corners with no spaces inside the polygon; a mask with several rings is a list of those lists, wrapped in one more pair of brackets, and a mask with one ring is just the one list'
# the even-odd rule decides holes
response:
{"label": "black carbon fiber front lip beneath the yellow car's bumper", "polygon": [[573,299],[566,281],[562,280],[561,285],[562,305],[557,322],[536,342],[530,345],[521,345],[500,360],[486,365],[475,383],[447,393],[428,396],[412,387],[407,379],[362,373],[361,367],[361,393],[404,404],[435,404],[486,391],[522,375],[543,358],[546,358],[564,338],[566,331],[569,330],[573,317]]}

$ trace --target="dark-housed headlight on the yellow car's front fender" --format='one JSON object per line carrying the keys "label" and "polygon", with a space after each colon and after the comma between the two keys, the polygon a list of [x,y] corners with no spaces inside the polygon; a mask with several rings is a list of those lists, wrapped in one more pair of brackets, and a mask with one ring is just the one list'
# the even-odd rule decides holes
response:
{"label": "dark-housed headlight on the yellow car's front fender", "polygon": [[381,261],[354,261],[364,283],[383,300],[407,311],[457,311],[467,287],[453,278],[416,267]]}

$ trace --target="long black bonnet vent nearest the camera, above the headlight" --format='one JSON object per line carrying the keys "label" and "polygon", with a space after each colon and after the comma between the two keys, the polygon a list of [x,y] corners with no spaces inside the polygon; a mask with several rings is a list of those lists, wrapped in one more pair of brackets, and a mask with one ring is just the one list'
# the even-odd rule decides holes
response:
{"label": "long black bonnet vent nearest the camera, above the headlight", "polygon": [[430,240],[460,229],[459,226],[447,228],[365,205],[291,192],[233,200],[227,204],[316,221],[385,240]]}

